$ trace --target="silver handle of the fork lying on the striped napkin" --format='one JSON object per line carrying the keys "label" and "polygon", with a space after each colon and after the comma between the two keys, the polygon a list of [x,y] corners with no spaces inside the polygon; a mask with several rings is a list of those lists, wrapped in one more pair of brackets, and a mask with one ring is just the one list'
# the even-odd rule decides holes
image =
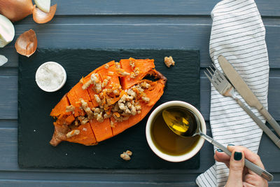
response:
{"label": "silver handle of the fork lying on the striped napkin", "polygon": [[255,121],[255,123],[257,123],[257,125],[263,130],[263,132],[267,134],[267,136],[274,142],[274,144],[278,148],[280,148],[280,139],[269,129],[269,127],[267,127],[265,123],[262,123],[262,120],[260,120],[258,116],[255,116],[255,113],[253,113],[251,109],[248,109],[248,107],[243,102],[241,102],[240,99],[235,97],[235,100],[241,106],[241,108],[244,109],[244,111],[246,111],[246,113],[248,113],[248,115]]}

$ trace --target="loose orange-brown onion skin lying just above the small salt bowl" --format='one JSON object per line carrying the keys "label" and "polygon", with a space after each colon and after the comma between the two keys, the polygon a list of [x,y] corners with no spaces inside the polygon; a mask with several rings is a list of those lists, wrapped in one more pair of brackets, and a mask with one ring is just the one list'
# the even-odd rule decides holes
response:
{"label": "loose orange-brown onion skin lying just above the small salt bowl", "polygon": [[30,29],[18,36],[17,41],[15,41],[15,50],[17,50],[20,55],[25,55],[27,57],[35,53],[37,48],[37,37],[34,30]]}

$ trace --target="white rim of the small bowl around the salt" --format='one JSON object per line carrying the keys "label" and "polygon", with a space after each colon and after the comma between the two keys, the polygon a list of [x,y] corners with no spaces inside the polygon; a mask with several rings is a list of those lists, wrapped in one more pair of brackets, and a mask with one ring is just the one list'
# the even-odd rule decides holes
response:
{"label": "white rim of the small bowl around the salt", "polygon": [[[41,69],[43,69],[46,65],[48,64],[54,64],[55,66],[57,66],[57,70],[60,69],[60,71],[62,72],[62,75],[60,78],[62,78],[62,83],[57,85],[57,87],[55,88],[52,88],[52,89],[48,89],[48,88],[45,88],[44,85],[42,85],[40,83],[40,81],[38,80],[38,76],[39,74],[41,73]],[[57,90],[59,90],[60,88],[62,88],[64,86],[64,84],[66,83],[66,71],[65,69],[60,65],[58,64],[57,62],[45,62],[43,64],[41,64],[40,67],[38,67],[37,71],[36,71],[36,75],[35,75],[35,79],[36,79],[36,83],[38,85],[39,88],[41,88],[41,90],[45,91],[45,92],[55,92]]]}

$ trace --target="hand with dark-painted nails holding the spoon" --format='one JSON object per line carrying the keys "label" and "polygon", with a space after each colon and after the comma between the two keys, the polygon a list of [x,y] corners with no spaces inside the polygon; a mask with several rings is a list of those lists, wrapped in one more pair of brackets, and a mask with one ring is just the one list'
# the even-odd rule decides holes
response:
{"label": "hand with dark-painted nails holding the spoon", "polygon": [[243,146],[228,146],[228,150],[232,152],[232,156],[225,154],[221,149],[218,149],[214,155],[215,160],[218,162],[224,162],[225,165],[230,168],[230,174],[228,181],[225,184],[226,187],[266,187],[268,186],[267,180],[263,179],[258,174],[255,174],[250,169],[244,167],[244,157],[258,165],[262,169],[265,167],[260,160],[260,157],[248,150]]}

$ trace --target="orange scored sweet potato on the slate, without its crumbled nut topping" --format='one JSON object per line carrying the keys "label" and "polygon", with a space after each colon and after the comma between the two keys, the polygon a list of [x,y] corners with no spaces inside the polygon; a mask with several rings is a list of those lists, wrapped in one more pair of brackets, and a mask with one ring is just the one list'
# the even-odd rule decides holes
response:
{"label": "orange scored sweet potato on the slate, without its crumbled nut topping", "polygon": [[[133,60],[134,67],[131,66],[130,62]],[[94,69],[90,74],[82,78],[62,99],[60,102],[52,109],[50,116],[56,118],[56,121],[53,123],[55,125],[55,132],[50,140],[52,146],[57,146],[61,141],[69,141],[78,144],[83,144],[85,146],[92,146],[98,144],[99,141],[104,141],[109,139],[127,128],[132,127],[133,125],[139,123],[149,111],[153,108],[153,105],[158,102],[162,96],[165,88],[165,83],[167,79],[162,76],[158,71],[155,71],[155,64],[153,60],[134,60],[124,59],[120,60],[120,68],[122,71],[132,74],[135,72],[135,68],[139,70],[139,75],[131,78],[130,76],[120,75],[118,72],[118,67],[116,67],[115,61],[108,62],[97,69]],[[127,95],[127,89],[131,88],[133,85],[140,84],[142,82],[148,83],[150,88],[144,90],[146,97],[150,98],[149,102],[144,102],[139,100],[141,104],[141,113],[136,115],[131,115],[130,118],[123,121],[117,121],[115,118],[104,118],[101,122],[97,119],[90,118],[89,114],[84,111],[81,107],[80,99],[83,99],[87,103],[87,106],[90,107],[92,113],[95,107],[99,106],[99,103],[94,98],[94,95],[101,96],[101,93],[97,93],[94,90],[94,85],[91,84],[85,90],[83,90],[83,84],[90,81],[92,74],[96,74],[97,78],[103,83],[104,80],[109,80],[107,85],[104,85],[102,89],[114,90],[116,88],[121,88],[117,95],[106,95],[105,98],[109,98],[108,102],[109,111],[110,107],[113,107],[113,104],[118,104],[118,100],[123,96]],[[143,78],[148,74],[158,78],[158,81],[148,81]],[[109,78],[110,76],[110,78]],[[75,106],[74,111],[66,112],[66,106]],[[105,106],[102,106],[102,109]],[[105,109],[105,108],[104,108]],[[108,111],[106,111],[108,113]],[[90,118],[87,123],[79,122],[80,118]],[[111,124],[113,122],[113,124]],[[77,124],[78,125],[77,125]],[[66,134],[70,133],[72,130],[78,130],[78,134],[73,135],[72,137],[67,138]]]}

